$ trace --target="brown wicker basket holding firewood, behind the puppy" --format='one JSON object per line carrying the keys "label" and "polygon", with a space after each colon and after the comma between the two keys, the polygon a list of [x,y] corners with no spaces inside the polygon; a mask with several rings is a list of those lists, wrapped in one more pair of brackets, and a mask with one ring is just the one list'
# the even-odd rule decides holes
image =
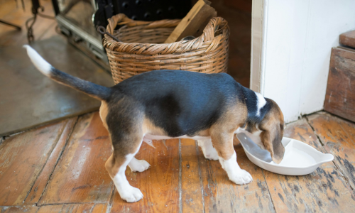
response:
{"label": "brown wicker basket holding firewood, behind the puppy", "polygon": [[[124,14],[109,18],[103,43],[115,84],[151,70],[226,72],[229,27],[224,18],[212,18],[200,37],[163,43],[180,20],[133,21]],[[114,31],[117,25],[124,25]]]}

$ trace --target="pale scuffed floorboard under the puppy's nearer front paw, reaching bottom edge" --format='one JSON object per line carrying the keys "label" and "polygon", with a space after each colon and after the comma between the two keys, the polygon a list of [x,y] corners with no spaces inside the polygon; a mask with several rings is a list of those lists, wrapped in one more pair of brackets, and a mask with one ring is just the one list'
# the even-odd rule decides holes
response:
{"label": "pale scuffed floorboard under the puppy's nearer front paw, reaching bottom edge", "polygon": [[275,212],[261,168],[251,163],[235,138],[234,149],[240,167],[253,177],[248,185],[231,182],[215,160],[206,160],[199,148],[199,163],[205,212]]}

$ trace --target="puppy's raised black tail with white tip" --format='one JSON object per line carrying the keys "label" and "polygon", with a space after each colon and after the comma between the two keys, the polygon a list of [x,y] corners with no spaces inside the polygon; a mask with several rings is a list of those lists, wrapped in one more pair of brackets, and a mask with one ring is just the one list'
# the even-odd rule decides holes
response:
{"label": "puppy's raised black tail with white tip", "polygon": [[103,87],[92,82],[87,82],[81,80],[80,78],[68,75],[65,72],[55,69],[48,62],[46,62],[33,48],[29,45],[23,45],[23,48],[26,48],[28,57],[30,57],[33,65],[43,73],[43,75],[49,77],[60,84],[65,84],[68,87],[84,92],[91,97],[100,100],[107,100],[111,95],[111,88]]}

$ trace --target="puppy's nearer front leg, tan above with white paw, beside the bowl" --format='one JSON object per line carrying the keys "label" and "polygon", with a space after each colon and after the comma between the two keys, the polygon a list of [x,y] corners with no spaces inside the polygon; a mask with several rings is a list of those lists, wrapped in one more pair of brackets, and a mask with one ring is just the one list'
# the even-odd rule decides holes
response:
{"label": "puppy's nearer front leg, tan above with white paw, beside the bowl", "polygon": [[219,155],[219,163],[226,170],[229,180],[238,185],[245,185],[253,181],[251,175],[242,170],[236,162],[236,151],[233,147],[234,133],[211,133],[212,143]]}

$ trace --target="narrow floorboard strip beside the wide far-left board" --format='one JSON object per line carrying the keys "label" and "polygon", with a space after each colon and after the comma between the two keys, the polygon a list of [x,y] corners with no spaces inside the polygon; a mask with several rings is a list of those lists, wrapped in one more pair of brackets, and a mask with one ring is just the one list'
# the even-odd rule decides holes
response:
{"label": "narrow floorboard strip beside the wide far-left board", "polygon": [[47,163],[45,163],[45,166],[40,172],[37,180],[35,180],[35,184],[24,202],[25,204],[35,204],[40,200],[40,196],[43,194],[50,175],[52,175],[55,165],[58,163],[60,155],[64,151],[65,145],[67,144],[67,140],[69,139],[72,130],[74,129],[76,121],[77,117],[68,120],[58,143],[55,145],[52,153],[50,153]]}

